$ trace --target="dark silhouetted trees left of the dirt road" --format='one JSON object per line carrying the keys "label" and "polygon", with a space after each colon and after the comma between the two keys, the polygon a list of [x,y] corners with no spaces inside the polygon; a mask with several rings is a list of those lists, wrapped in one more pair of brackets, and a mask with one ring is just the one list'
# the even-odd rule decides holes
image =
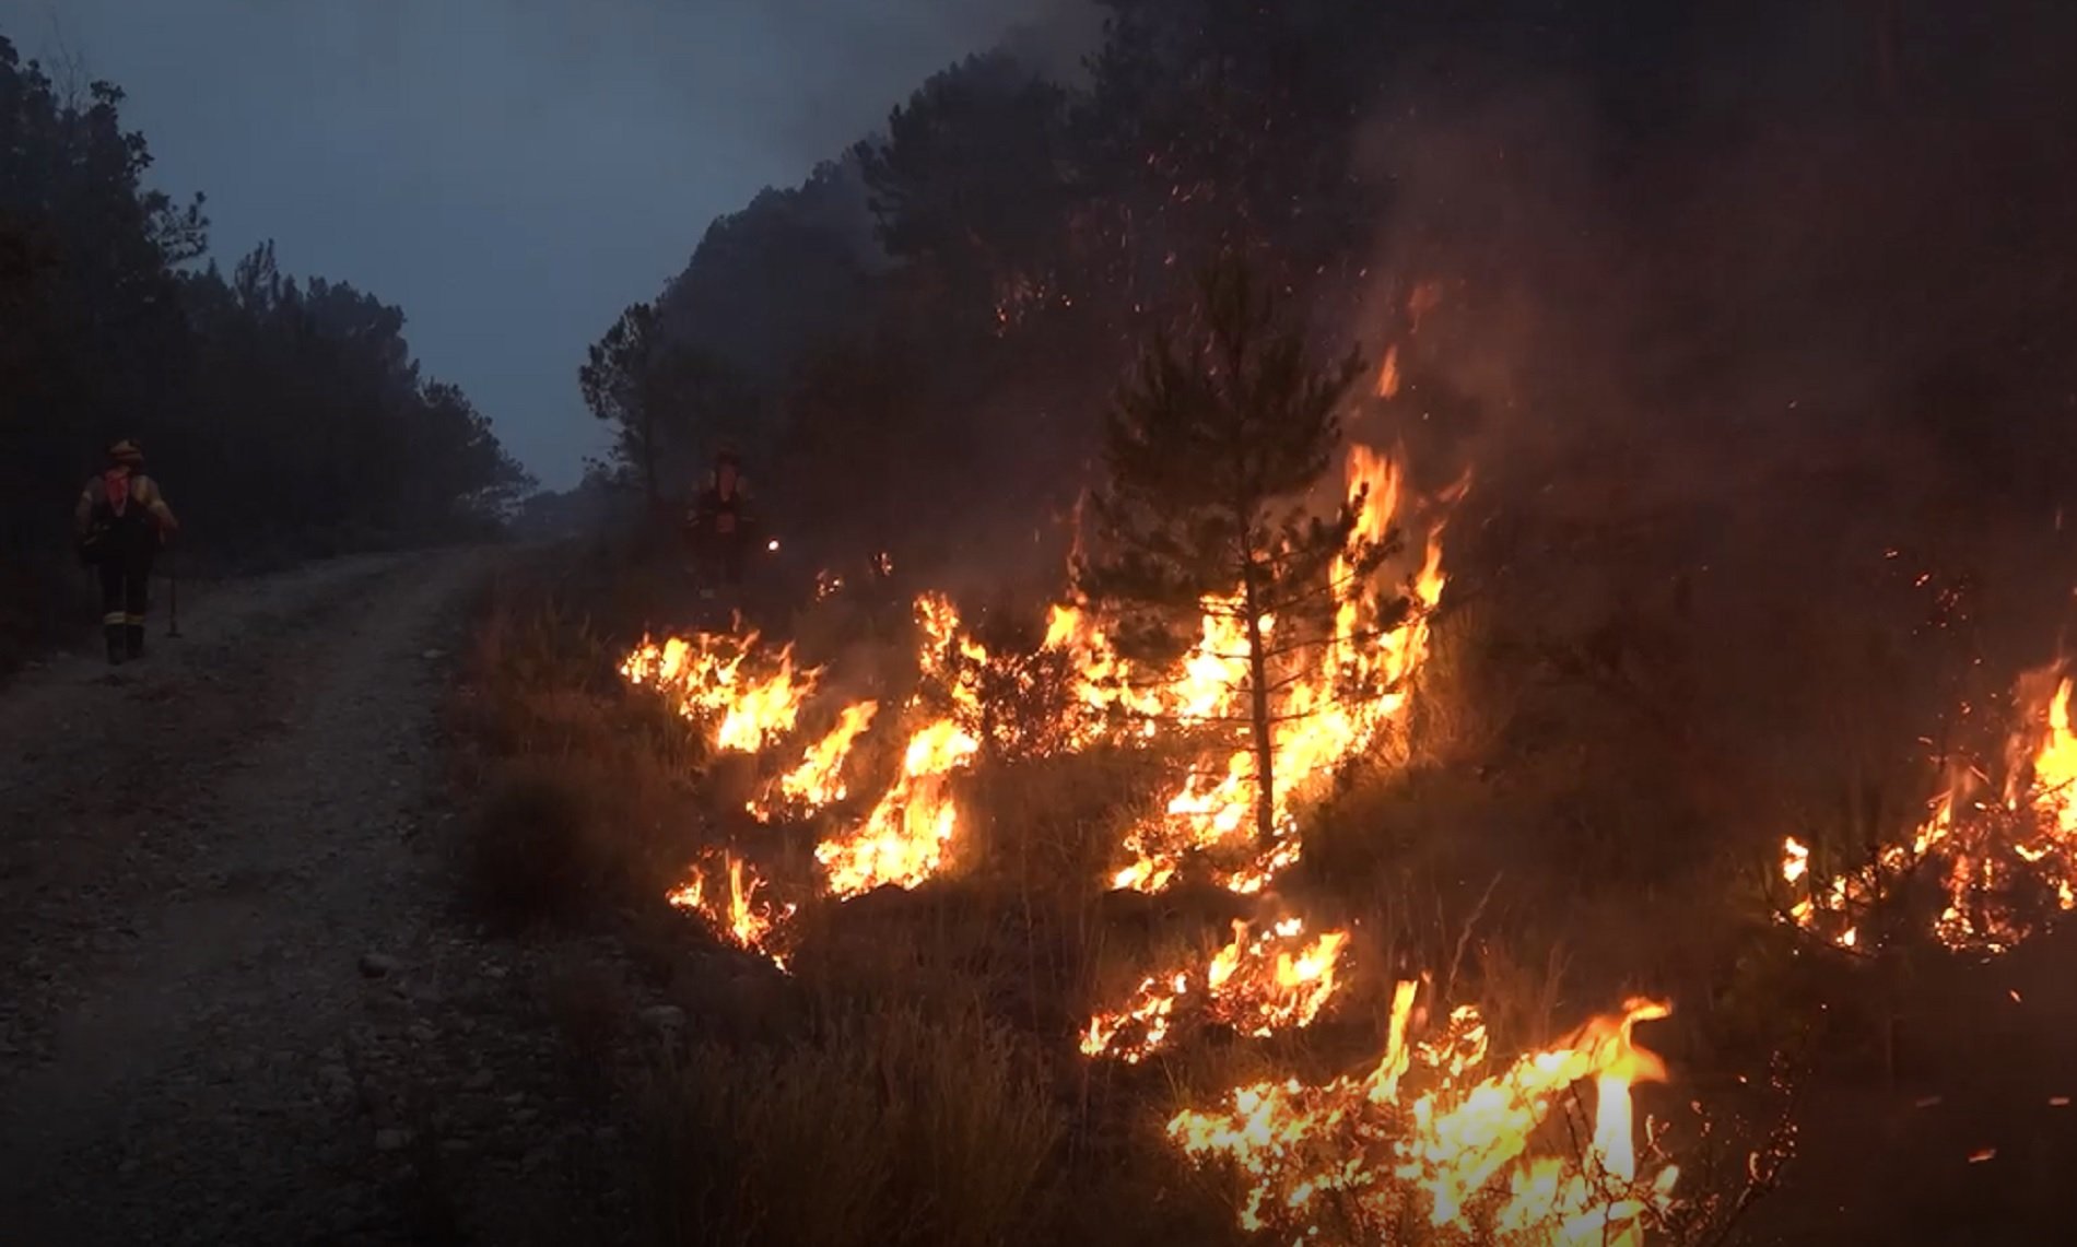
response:
{"label": "dark silhouetted trees left of the dirt road", "polygon": [[71,502],[137,438],[216,564],[480,531],[525,486],[486,417],[420,373],[405,315],[210,259],[197,195],[145,185],[123,91],[0,37],[0,635],[66,627]]}

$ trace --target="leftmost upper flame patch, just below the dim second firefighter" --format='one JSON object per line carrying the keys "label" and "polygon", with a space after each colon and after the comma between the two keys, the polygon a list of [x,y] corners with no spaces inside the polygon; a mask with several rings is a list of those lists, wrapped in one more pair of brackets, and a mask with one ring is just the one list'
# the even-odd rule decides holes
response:
{"label": "leftmost upper flame patch, just below the dim second firefighter", "polygon": [[758,670],[756,645],[756,633],[698,633],[663,645],[644,639],[621,662],[621,676],[675,697],[679,714],[712,726],[717,749],[756,753],[793,730],[820,674],[793,670],[791,645]]}

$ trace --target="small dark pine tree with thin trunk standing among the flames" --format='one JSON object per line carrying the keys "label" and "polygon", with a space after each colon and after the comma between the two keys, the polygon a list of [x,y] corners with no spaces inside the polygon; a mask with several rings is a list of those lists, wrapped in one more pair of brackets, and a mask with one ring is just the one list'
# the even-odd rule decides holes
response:
{"label": "small dark pine tree with thin trunk standing among the flames", "polygon": [[1074,579],[1140,660],[1180,660],[1207,610],[1232,612],[1246,637],[1246,714],[1232,726],[1255,757],[1255,832],[1269,842],[1279,672],[1331,639],[1336,608],[1392,542],[1358,535],[1360,494],[1327,515],[1306,504],[1363,361],[1315,361],[1242,261],[1215,264],[1198,290],[1198,342],[1157,336],[1107,413],[1109,481],[1090,496],[1095,554]]}

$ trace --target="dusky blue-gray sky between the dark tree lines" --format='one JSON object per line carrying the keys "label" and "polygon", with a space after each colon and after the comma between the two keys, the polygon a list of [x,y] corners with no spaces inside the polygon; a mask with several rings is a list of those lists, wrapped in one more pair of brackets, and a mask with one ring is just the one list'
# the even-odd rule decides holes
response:
{"label": "dusky blue-gray sky between the dark tree lines", "polygon": [[399,303],[426,371],[561,488],[604,446],[584,347],[714,216],[1066,4],[0,0],[0,33],[129,91],[226,268],[272,237],[289,272]]}

